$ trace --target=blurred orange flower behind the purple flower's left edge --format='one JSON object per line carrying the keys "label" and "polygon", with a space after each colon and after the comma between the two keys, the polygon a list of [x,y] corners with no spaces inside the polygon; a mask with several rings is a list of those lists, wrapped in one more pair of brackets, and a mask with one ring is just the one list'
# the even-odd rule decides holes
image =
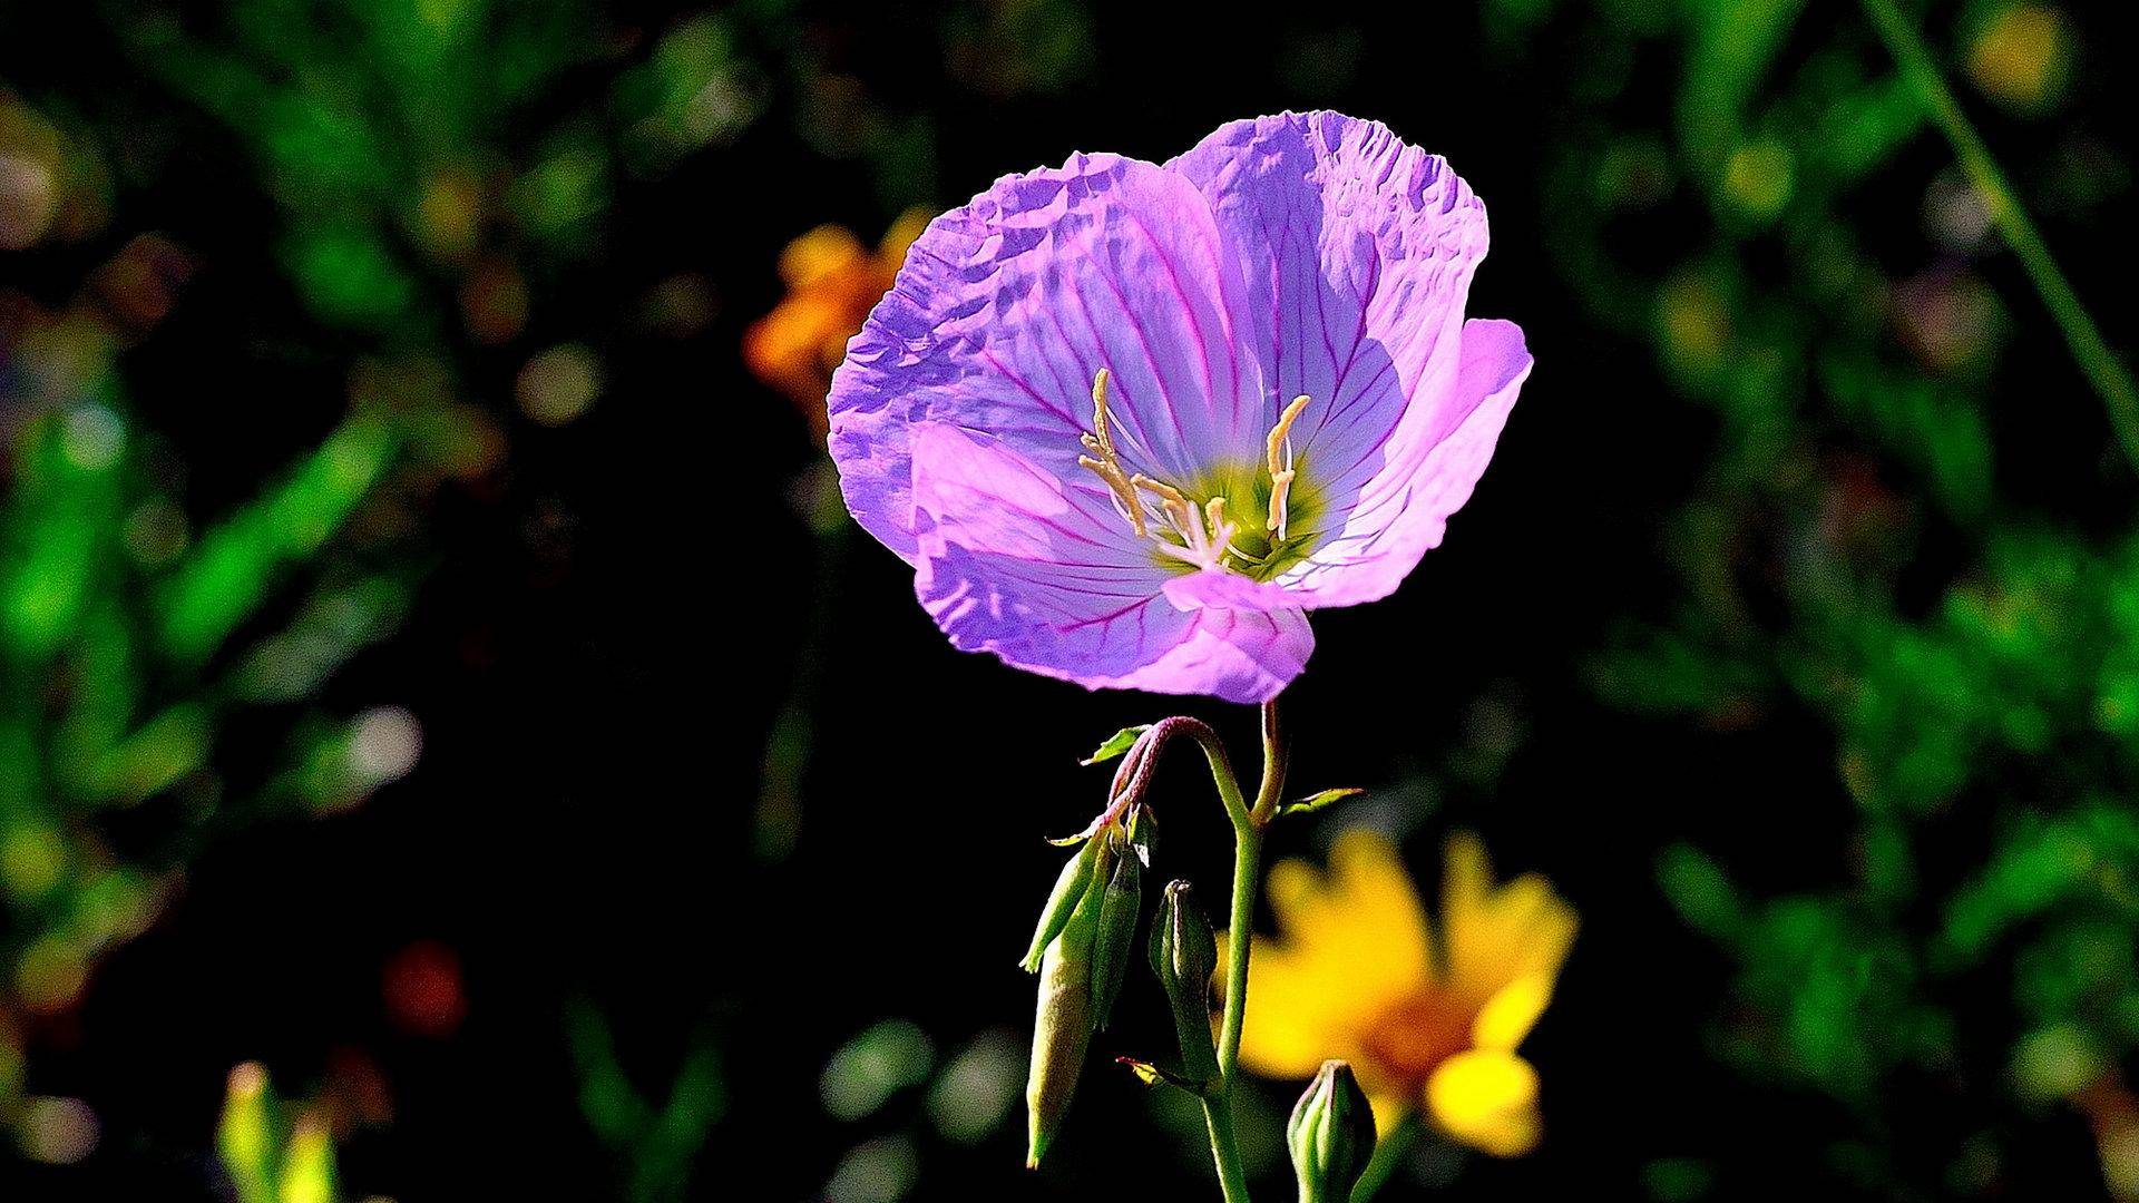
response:
{"label": "blurred orange flower behind the purple flower's left edge", "polygon": [[853,231],[819,225],[781,253],[787,300],[742,336],[742,362],[802,409],[811,430],[826,435],[824,394],[832,368],[847,355],[847,340],[868,310],[892,289],[907,246],[928,227],[922,210],[907,210],[875,250]]}

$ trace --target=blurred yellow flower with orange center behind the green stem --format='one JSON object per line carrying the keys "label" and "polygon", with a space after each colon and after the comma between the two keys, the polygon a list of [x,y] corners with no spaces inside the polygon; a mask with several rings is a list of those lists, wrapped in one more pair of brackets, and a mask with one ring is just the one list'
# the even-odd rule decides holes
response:
{"label": "blurred yellow flower with orange center behind the green stem", "polygon": [[1348,831],[1328,873],[1286,861],[1268,897],[1279,938],[1258,940],[1247,968],[1243,1066],[1309,1077],[1343,1057],[1382,1132],[1425,1109],[1487,1154],[1536,1147],[1538,1070],[1514,1049],[1574,942],[1574,910],[1544,878],[1495,886],[1478,837],[1455,835],[1429,927],[1397,850]]}

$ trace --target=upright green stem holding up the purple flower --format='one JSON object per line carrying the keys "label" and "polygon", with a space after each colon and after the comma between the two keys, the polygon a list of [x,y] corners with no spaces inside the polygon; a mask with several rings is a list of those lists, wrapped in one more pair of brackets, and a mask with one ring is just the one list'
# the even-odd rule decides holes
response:
{"label": "upright green stem holding up the purple flower", "polygon": [[[1209,730],[1209,728],[1204,728]],[[1286,788],[1286,753],[1277,732],[1277,702],[1262,704],[1262,786],[1253,809],[1241,796],[1226,749],[1198,736],[1211,762],[1211,779],[1232,820],[1232,914],[1226,938],[1226,1012],[1217,1036],[1217,1085],[1204,1096],[1204,1124],[1211,1128],[1211,1160],[1217,1162],[1226,1203],[1247,1203],[1247,1169],[1241,1164],[1241,1143],[1232,1126],[1232,1083],[1241,1066],[1241,1025],[1247,1019],[1247,957],[1253,940],[1256,890],[1262,884],[1262,828],[1277,813],[1277,796]]]}

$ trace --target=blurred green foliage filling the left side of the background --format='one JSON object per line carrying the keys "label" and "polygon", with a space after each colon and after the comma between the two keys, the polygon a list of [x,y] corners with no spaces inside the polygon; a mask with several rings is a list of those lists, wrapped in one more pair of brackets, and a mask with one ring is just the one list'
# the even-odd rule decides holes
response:
{"label": "blurred green foliage filling the left side of the background", "polygon": [[[400,627],[432,563],[404,512],[496,469],[513,398],[552,426],[595,400],[584,347],[524,347],[530,308],[599,244],[618,176],[659,173],[757,109],[721,15],[665,30],[588,107],[554,96],[627,47],[582,4],[103,17],[188,120],[252,161],[308,338],[347,347],[353,368],[342,396],[295,398],[340,413],[317,443],[289,447],[250,499],[201,512],[180,452],[139,422],[126,368],[193,255],[111,229],[109,131],[68,96],[0,86],[0,154],[19,173],[6,250],[118,246],[56,304],[51,289],[0,291],[0,1120],[21,1113],[24,1023],[79,1000],[96,957],[156,916],[212,833],[344,807],[411,768],[421,730],[404,709],[321,704]],[[468,383],[490,347],[528,357],[509,398]],[[244,741],[263,730],[280,732],[282,768],[233,773],[261,760]],[[113,839],[137,811],[156,839]]]}

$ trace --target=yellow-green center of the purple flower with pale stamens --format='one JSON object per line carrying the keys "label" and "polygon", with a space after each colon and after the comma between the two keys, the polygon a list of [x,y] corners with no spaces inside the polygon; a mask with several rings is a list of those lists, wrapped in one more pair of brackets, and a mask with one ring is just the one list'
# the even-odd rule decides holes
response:
{"label": "yellow-green center of the purple flower with pale stamens", "polygon": [[[1264,462],[1213,467],[1202,479],[1170,484],[1121,462],[1112,413],[1106,402],[1108,370],[1091,381],[1091,430],[1080,435],[1078,465],[1106,482],[1114,512],[1138,539],[1151,539],[1166,563],[1187,569],[1241,572],[1268,580],[1298,563],[1313,533],[1294,533],[1294,518],[1311,516],[1313,497],[1298,482],[1292,424],[1307,409],[1307,396],[1292,398],[1264,439]],[[1230,514],[1262,514],[1241,522]]]}

